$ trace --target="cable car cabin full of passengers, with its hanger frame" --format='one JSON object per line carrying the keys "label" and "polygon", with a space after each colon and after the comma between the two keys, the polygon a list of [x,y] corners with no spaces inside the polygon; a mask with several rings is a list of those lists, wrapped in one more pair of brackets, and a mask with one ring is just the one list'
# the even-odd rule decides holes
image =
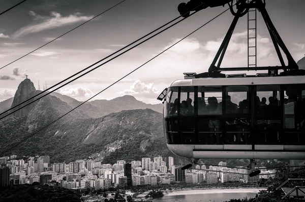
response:
{"label": "cable car cabin full of passengers, with its hanger frame", "polygon": [[[181,3],[178,9],[193,11],[203,2]],[[204,8],[209,6],[206,2]],[[199,158],[248,158],[254,169],[254,159],[305,159],[304,70],[298,69],[273,26],[265,2],[236,4],[236,13],[229,4],[234,19],[208,72],[184,73],[184,79],[172,82],[157,98],[164,100],[167,146],[195,164]],[[238,18],[250,9],[262,14],[282,66],[220,68]],[[287,66],[279,47],[287,56]],[[245,70],[267,73],[221,73]]]}

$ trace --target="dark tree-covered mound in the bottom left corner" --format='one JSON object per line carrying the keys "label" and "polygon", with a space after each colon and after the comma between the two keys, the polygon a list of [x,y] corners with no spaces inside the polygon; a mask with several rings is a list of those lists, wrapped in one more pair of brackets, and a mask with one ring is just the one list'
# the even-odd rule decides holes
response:
{"label": "dark tree-covered mound in the bottom left corner", "polygon": [[13,185],[0,188],[0,201],[78,202],[81,194],[71,189],[48,185]]}

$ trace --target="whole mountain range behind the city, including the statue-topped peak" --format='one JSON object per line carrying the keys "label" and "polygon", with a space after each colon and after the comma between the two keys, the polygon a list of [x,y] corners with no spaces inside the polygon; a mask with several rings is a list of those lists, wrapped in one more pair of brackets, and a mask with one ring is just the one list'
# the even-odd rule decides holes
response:
{"label": "whole mountain range behind the city, including the statue-topped peak", "polygon": [[[0,102],[0,111],[39,92],[31,80],[25,79],[14,98]],[[81,103],[69,96],[51,93],[0,120],[3,126],[0,128],[1,151]],[[87,102],[6,155],[49,155],[53,162],[91,156],[113,164],[123,158],[140,160],[145,156],[169,156],[160,112],[162,104],[146,104],[129,95]]]}

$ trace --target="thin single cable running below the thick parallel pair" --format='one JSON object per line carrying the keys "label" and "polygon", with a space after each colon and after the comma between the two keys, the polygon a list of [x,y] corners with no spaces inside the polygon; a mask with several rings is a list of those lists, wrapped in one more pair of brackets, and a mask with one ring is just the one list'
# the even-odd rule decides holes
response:
{"label": "thin single cable running below the thick parallel pair", "polygon": [[[174,43],[173,45],[169,46],[168,48],[166,48],[164,51],[162,51],[161,53],[159,53],[158,55],[156,55],[155,57],[151,58],[150,60],[148,60],[147,62],[145,62],[144,64],[142,64],[141,66],[137,67],[136,69],[132,70],[131,72],[129,72],[128,74],[126,74],[125,76],[121,77],[120,79],[116,80],[116,82],[112,83],[111,85],[109,85],[108,87],[106,87],[105,89],[103,89],[102,91],[100,91],[99,93],[97,93],[96,95],[92,96],[91,98],[87,99],[86,101],[82,102],[81,104],[79,104],[78,106],[74,107],[73,109],[71,109],[70,111],[66,112],[65,114],[59,116],[58,118],[56,118],[55,120],[53,120],[53,122],[51,122],[50,124],[46,125],[45,127],[41,128],[40,130],[38,130],[37,132],[29,135],[28,137],[24,138],[23,140],[21,140],[20,142],[18,142],[17,144],[15,144],[14,146],[10,147],[9,149],[3,151],[2,153],[0,153],[0,156],[5,154],[6,152],[8,152],[9,150],[15,148],[16,146],[18,146],[19,144],[21,144],[22,142],[26,141],[27,139],[33,137],[35,134],[39,133],[40,131],[44,130],[45,128],[49,127],[50,125],[52,125],[53,123],[55,123],[57,120],[59,120],[60,118],[64,117],[65,115],[67,115],[68,113],[70,113],[71,111],[75,110],[76,108],[80,107],[81,105],[83,105],[84,103],[86,103],[87,101],[93,99],[94,97],[98,96],[99,94],[101,94],[102,92],[104,92],[105,90],[109,89],[110,87],[112,87],[113,85],[115,85],[116,83],[118,83],[120,80],[124,79],[125,77],[129,76],[130,74],[132,74],[133,72],[135,72],[136,70],[138,70],[139,68],[141,68],[142,66],[144,66],[145,64],[147,64],[148,62],[150,62],[151,60],[154,60],[155,58],[157,58],[158,56],[160,56],[161,54],[163,54],[165,51],[169,50],[170,48],[172,48],[173,46],[175,46],[176,44],[178,44],[179,42],[181,42],[182,40],[184,40],[185,38],[187,38],[188,36],[190,36],[191,34],[193,34],[194,32],[198,31],[200,28],[202,28],[203,26],[205,26],[206,24],[208,24],[209,22],[211,22],[212,20],[216,19],[217,17],[221,16],[222,14],[224,14],[226,11],[228,11],[229,9],[226,9],[225,11],[223,11],[222,13],[220,13],[219,15],[217,15],[216,17],[212,18],[211,20],[209,20],[208,22],[206,22],[205,24],[201,25],[199,28],[195,29],[194,31],[192,31],[190,34],[186,35],[185,37],[181,38],[179,41],[177,41],[176,43]],[[194,13],[193,13],[194,14]],[[183,19],[182,19],[183,20]],[[180,21],[179,21],[180,22]],[[102,64],[101,64],[102,65]],[[100,65],[100,66],[101,66]]]}

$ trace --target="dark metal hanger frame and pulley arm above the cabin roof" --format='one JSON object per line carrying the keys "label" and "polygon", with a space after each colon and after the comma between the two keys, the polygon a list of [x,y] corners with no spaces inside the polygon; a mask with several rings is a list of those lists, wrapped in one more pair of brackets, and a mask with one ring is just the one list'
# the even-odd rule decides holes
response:
{"label": "dark metal hanger frame and pulley arm above the cabin roof", "polygon": [[[199,4],[202,4],[202,6],[198,7]],[[195,77],[224,77],[224,74],[221,74],[221,71],[249,71],[249,70],[268,70],[268,72],[271,72],[271,74],[278,74],[279,69],[283,70],[298,70],[298,65],[296,64],[295,60],[292,58],[290,52],[288,51],[287,47],[285,46],[280,34],[278,33],[277,29],[271,22],[271,19],[266,11],[265,8],[265,0],[252,0],[251,2],[247,3],[247,0],[236,0],[236,9],[237,11],[234,12],[233,10],[233,1],[231,0],[220,0],[220,1],[211,1],[211,0],[191,0],[190,2],[186,3],[181,3],[178,6],[178,11],[180,13],[184,12],[187,13],[183,17],[188,17],[191,11],[198,11],[198,10],[203,10],[206,9],[207,7],[217,7],[217,6],[224,6],[225,4],[229,5],[230,11],[232,15],[234,15],[234,19],[229,27],[228,32],[225,35],[225,38],[214,58],[212,61],[208,73],[201,73],[197,74]],[[197,7],[196,7],[197,6]],[[196,9],[194,9],[196,7]],[[279,57],[279,60],[281,62],[281,66],[268,66],[268,67],[229,67],[229,68],[220,68],[220,65],[222,63],[222,60],[224,58],[225,52],[227,50],[228,44],[230,42],[232,33],[235,29],[235,26],[237,24],[237,21],[240,17],[246,15],[249,12],[249,9],[257,9],[261,14],[262,17],[265,21],[265,24],[267,26],[267,29],[270,33],[272,43],[276,49],[277,55]],[[283,50],[285,53],[287,60],[288,60],[288,65],[285,65],[283,56],[281,54],[281,51],[279,47]],[[218,61],[218,64],[216,66],[216,62]],[[287,71],[286,71],[287,72]]]}

